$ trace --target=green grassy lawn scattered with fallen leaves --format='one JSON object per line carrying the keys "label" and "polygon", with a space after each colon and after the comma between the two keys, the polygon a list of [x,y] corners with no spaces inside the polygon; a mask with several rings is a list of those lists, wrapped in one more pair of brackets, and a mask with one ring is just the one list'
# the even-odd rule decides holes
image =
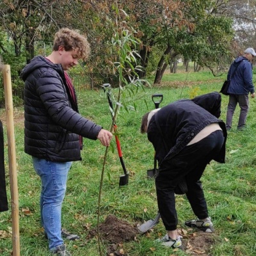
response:
{"label": "green grassy lawn scattered with fallen leaves", "polygon": [[[147,179],[147,170],[152,169],[154,164],[154,148],[147,141],[147,136],[140,134],[141,116],[148,110],[154,109],[150,95],[163,93],[161,107],[174,100],[220,91],[225,77],[226,75],[213,77],[210,72],[166,74],[161,86],[145,90],[144,99],[149,109],[143,100],[138,100],[136,111],[129,113],[125,110],[121,111],[116,124],[119,132],[122,133],[120,142],[123,158],[131,176],[128,186],[118,187],[119,177],[123,171],[113,140],[115,150],[114,152],[109,150],[102,188],[101,221],[104,221],[109,214],[115,214],[116,217],[136,225],[154,218],[157,214],[154,180]],[[143,93],[140,96],[143,97]],[[111,116],[108,100],[102,92],[84,90],[78,93],[78,99],[82,115],[109,129]],[[236,109],[234,128],[228,132],[226,163],[219,164],[212,161],[202,177],[209,213],[216,229],[214,244],[211,246],[212,256],[250,256],[255,255],[256,252],[255,100],[250,99],[247,129],[243,132],[236,130],[239,114],[239,109]],[[223,96],[221,119],[224,121],[227,102],[228,97]],[[4,115],[4,109],[1,109],[1,120],[6,126]],[[4,132],[6,133],[6,129]],[[15,140],[19,182],[20,255],[49,255],[48,243],[40,228],[40,180],[33,170],[31,157],[24,153],[22,108],[15,108]],[[10,204],[7,142],[5,146]],[[89,230],[97,226],[98,194],[104,153],[105,148],[99,141],[85,139],[83,160],[72,165],[68,176],[67,195],[63,203],[63,227],[81,236],[79,241],[66,241],[68,250],[75,256],[99,255],[97,239],[87,239],[87,236]],[[177,196],[176,202],[179,228],[186,230],[184,221],[195,216],[186,196]],[[12,252],[11,211],[1,212],[0,216],[0,255],[9,256]],[[181,250],[175,251],[154,243],[155,239],[164,234],[163,223],[160,221],[152,232],[138,234],[135,241],[124,243],[122,248],[126,255],[131,256],[188,255]],[[106,244],[103,247],[106,248]]]}

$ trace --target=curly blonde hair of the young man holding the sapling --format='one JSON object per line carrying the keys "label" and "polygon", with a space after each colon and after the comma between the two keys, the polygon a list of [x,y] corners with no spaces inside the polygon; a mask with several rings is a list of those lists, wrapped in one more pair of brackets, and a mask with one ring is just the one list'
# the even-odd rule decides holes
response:
{"label": "curly blonde hair of the young man holding the sapling", "polygon": [[65,51],[78,49],[79,59],[87,60],[90,55],[90,44],[86,35],[69,28],[61,28],[54,36],[53,51],[58,51],[61,45]]}

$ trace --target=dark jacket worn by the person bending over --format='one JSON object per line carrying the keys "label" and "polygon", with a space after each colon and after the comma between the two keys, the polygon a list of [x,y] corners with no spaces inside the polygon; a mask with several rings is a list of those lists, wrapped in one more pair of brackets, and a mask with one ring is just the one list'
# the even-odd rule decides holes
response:
{"label": "dark jacket worn by the person bending over", "polygon": [[152,116],[148,124],[148,140],[156,150],[159,166],[164,159],[179,154],[198,132],[212,123],[220,124],[225,137],[220,156],[216,161],[225,163],[227,130],[218,118],[221,113],[221,95],[218,92],[200,95],[192,100],[182,99],[168,104]]}

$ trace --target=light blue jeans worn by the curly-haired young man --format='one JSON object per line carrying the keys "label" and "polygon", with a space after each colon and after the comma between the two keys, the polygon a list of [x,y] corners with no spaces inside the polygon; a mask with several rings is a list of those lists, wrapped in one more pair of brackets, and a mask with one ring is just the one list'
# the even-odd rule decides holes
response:
{"label": "light blue jeans worn by the curly-haired young man", "polygon": [[52,162],[33,157],[33,164],[42,183],[40,195],[41,223],[49,239],[49,249],[51,250],[63,244],[61,238],[61,205],[72,162]]}

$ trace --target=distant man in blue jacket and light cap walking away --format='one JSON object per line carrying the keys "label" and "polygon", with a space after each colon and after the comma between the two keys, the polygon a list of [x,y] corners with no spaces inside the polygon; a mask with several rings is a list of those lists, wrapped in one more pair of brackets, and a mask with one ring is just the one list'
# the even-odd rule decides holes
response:
{"label": "distant man in blue jacket and light cap walking away", "polygon": [[237,129],[241,130],[245,127],[246,117],[249,111],[248,94],[251,93],[251,97],[255,97],[252,82],[252,60],[254,56],[256,56],[256,52],[253,48],[247,48],[244,51],[243,56],[236,58],[228,70],[227,80],[231,79],[231,81],[228,88],[229,101],[226,120],[227,130],[230,130],[232,127],[232,118],[237,103],[240,107]]}

